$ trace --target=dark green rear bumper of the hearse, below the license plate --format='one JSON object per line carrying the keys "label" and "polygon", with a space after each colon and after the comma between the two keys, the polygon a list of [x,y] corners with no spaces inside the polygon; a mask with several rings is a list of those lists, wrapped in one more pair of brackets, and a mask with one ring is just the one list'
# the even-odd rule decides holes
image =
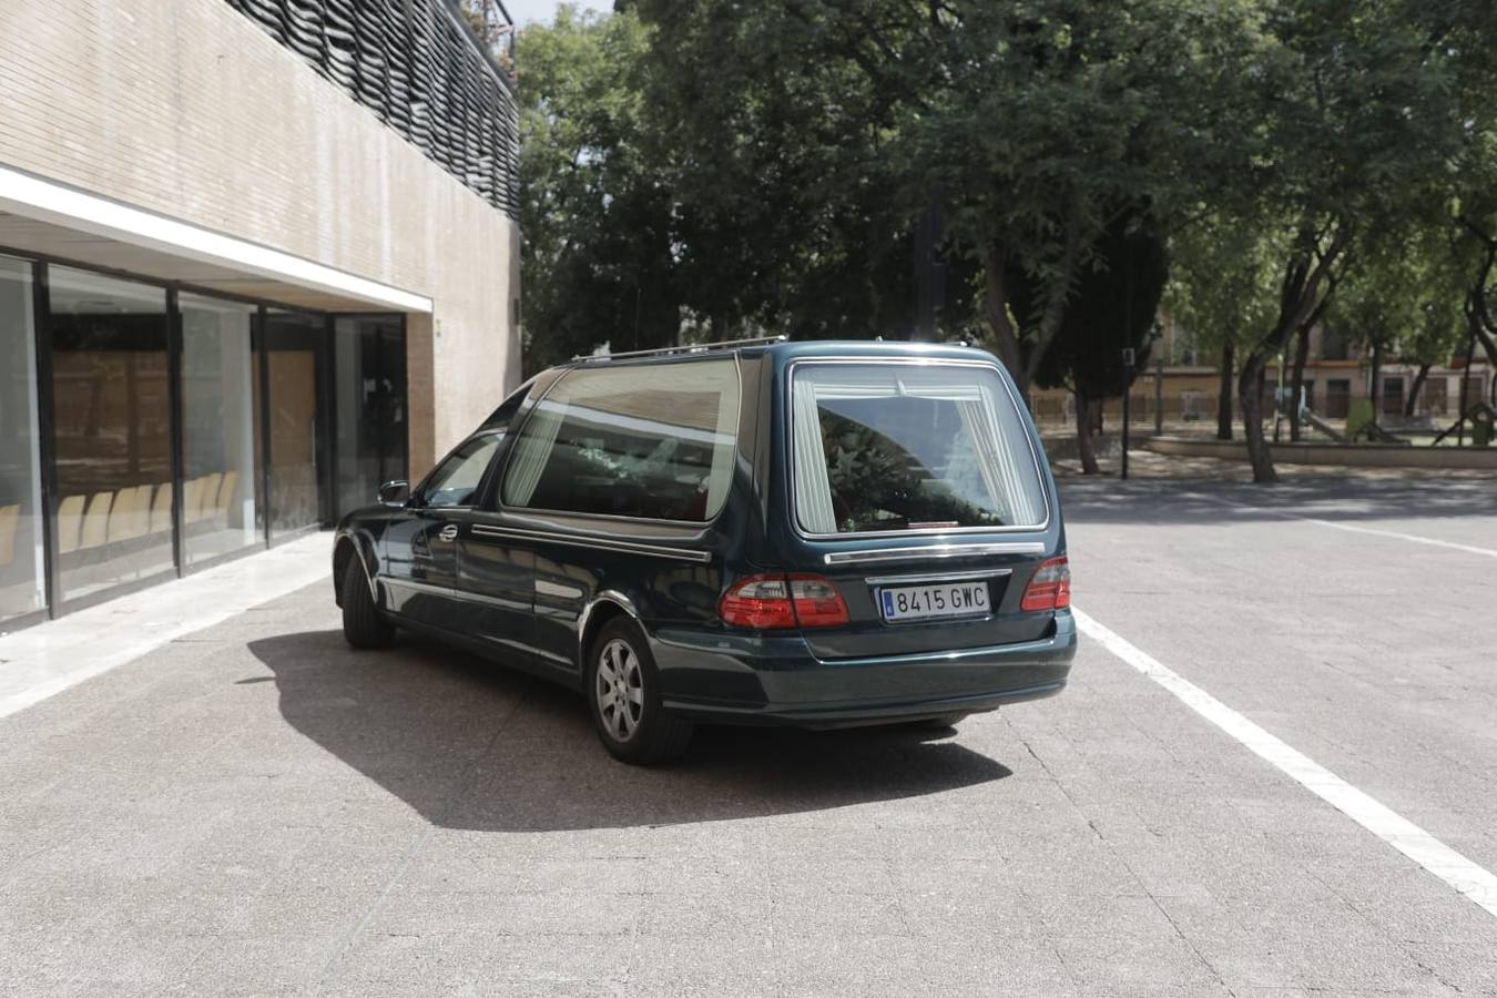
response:
{"label": "dark green rear bumper of the hearse, below the license plate", "polygon": [[731,724],[835,727],[976,714],[1054,696],[1076,655],[1070,613],[1040,640],[949,652],[819,660],[799,637],[651,636],[665,706]]}

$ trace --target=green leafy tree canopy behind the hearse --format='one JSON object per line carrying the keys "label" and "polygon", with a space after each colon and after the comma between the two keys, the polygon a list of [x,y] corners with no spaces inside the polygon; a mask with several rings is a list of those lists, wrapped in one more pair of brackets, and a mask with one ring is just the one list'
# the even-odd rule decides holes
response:
{"label": "green leafy tree canopy behind the hearse", "polygon": [[1424,362],[1497,281],[1490,0],[617,7],[519,43],[531,367],[909,335],[933,202],[940,335],[1021,385],[1115,394],[1163,247],[1165,307],[1244,385],[1332,295]]}

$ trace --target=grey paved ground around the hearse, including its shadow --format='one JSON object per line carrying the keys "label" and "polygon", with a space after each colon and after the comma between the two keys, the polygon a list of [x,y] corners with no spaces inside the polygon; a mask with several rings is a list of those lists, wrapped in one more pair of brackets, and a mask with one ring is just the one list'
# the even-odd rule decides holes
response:
{"label": "grey paved ground around the hearse, including its shadow", "polygon": [[326,585],[0,718],[0,992],[1497,995],[1497,482],[1064,491],[1111,643],[955,733],[630,769]]}

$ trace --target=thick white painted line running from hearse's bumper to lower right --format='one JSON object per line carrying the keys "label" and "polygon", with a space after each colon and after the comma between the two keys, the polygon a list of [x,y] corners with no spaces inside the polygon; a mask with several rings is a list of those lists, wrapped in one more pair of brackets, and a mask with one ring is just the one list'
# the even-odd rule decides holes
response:
{"label": "thick white painted line running from hearse's bumper to lower right", "polygon": [[1174,693],[1186,706],[1250,748],[1299,786],[1383,839],[1400,853],[1497,916],[1497,877],[1466,859],[1413,821],[1367,796],[1304,753],[1286,745],[1214,696],[1139,651],[1076,607],[1076,627],[1109,652]]}

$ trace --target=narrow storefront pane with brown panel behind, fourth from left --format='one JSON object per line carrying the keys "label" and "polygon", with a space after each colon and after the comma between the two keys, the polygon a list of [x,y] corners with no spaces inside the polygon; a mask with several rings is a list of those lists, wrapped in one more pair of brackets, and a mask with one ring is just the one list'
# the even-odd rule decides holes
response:
{"label": "narrow storefront pane with brown panel behind, fourth from left", "polygon": [[319,386],[328,344],[322,316],[265,313],[263,349],[269,376],[271,537],[322,522],[323,416]]}

